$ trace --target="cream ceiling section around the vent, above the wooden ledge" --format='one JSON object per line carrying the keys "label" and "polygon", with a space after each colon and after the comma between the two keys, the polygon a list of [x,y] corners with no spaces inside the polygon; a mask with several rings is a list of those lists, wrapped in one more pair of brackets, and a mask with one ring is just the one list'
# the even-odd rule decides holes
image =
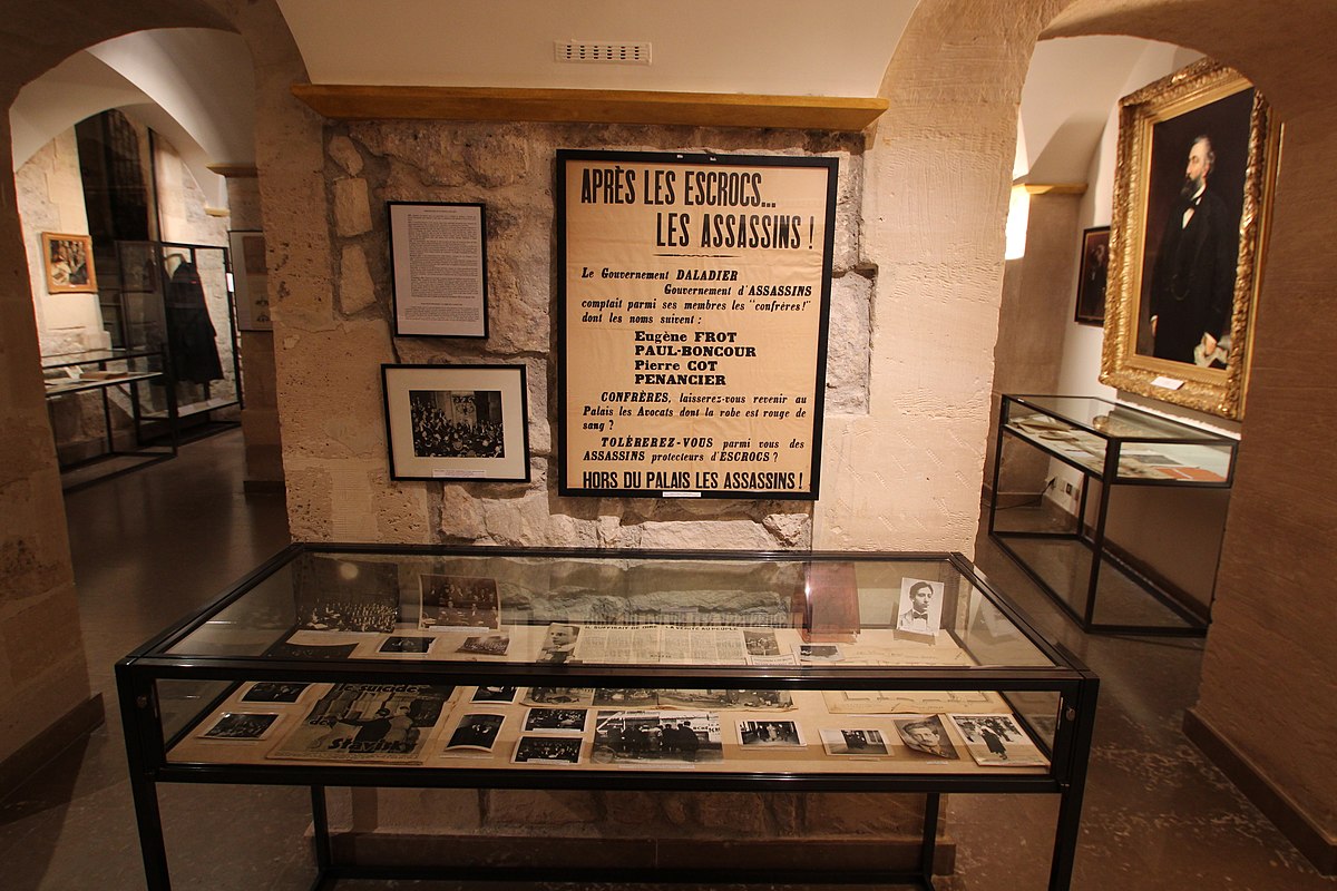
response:
{"label": "cream ceiling section around the vent, above the wooden ledge", "polygon": [[[876,96],[917,0],[278,0],[312,83]],[[651,64],[554,60],[566,40]]]}

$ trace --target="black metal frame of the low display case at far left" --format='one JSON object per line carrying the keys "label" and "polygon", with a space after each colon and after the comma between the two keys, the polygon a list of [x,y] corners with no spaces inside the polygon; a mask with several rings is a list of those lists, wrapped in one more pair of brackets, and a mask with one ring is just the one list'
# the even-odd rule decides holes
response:
{"label": "black metal frame of the low display case at far left", "polygon": [[[180,448],[179,437],[176,433],[176,401],[172,394],[171,378],[167,373],[167,357],[163,350],[156,349],[104,349],[104,350],[84,350],[82,353],[64,353],[44,357],[41,359],[41,370],[52,371],[57,369],[94,366],[99,371],[107,371],[108,363],[112,362],[126,362],[132,363],[135,359],[147,359],[152,362],[156,359],[158,370],[127,370],[123,375],[115,378],[104,378],[96,381],[83,381],[71,378],[68,382],[62,381],[60,383],[52,385],[47,383],[47,402],[53,399],[60,399],[67,395],[75,395],[79,393],[98,393],[102,397],[102,422],[103,422],[103,438],[106,442],[106,449],[90,458],[83,458],[80,461],[71,461],[68,464],[62,464],[62,473],[79,470],[94,464],[108,461],[112,458],[142,458],[135,464],[119,468],[111,473],[104,473],[90,480],[82,480],[63,486],[64,492],[78,492],[86,486],[95,482],[103,482],[114,477],[119,477],[134,470],[140,470],[143,468],[159,464],[162,461],[170,461],[176,457],[176,452]],[[167,409],[163,413],[162,422],[167,426],[167,446],[148,446],[143,435],[143,425],[148,415],[143,411],[139,399],[139,385],[146,381],[158,381],[164,383],[164,390],[167,394]],[[118,449],[116,448],[116,430],[112,426],[111,419],[111,390],[123,390],[130,399],[130,418],[132,425],[132,431],[135,435],[134,449]]]}

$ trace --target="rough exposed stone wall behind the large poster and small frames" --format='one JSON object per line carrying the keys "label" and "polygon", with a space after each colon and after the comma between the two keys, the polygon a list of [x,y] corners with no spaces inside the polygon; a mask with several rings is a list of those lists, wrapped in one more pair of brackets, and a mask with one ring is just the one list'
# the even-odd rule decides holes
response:
{"label": "rough exposed stone wall behind the large poster and small frames", "polygon": [[[560,357],[555,354],[552,318],[554,158],[559,147],[838,158],[826,381],[830,417],[862,414],[868,406],[869,301],[876,274],[861,262],[858,248],[860,139],[663,127],[366,122],[329,127],[325,144],[334,258],[329,311],[344,334],[357,331],[360,346],[356,363],[337,378],[297,361],[303,389],[317,386],[324,391],[318,402],[289,403],[283,417],[285,437],[291,429],[298,442],[322,443],[299,457],[289,456],[297,538],[607,548],[810,546],[810,508],[805,502],[556,497],[555,363]],[[389,200],[487,204],[491,335],[485,342],[389,338]],[[301,331],[287,333],[282,346],[287,362],[308,339]],[[344,349],[352,349],[352,341]],[[390,482],[381,362],[524,363],[532,482]],[[338,417],[321,407],[326,401],[340,405]]]}

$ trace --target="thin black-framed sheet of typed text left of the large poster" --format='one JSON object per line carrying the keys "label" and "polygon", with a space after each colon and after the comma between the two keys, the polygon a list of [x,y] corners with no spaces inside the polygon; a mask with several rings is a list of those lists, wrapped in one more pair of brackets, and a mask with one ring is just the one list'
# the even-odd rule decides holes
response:
{"label": "thin black-framed sheet of typed text left of the large poster", "polygon": [[396,337],[488,335],[483,204],[389,202]]}

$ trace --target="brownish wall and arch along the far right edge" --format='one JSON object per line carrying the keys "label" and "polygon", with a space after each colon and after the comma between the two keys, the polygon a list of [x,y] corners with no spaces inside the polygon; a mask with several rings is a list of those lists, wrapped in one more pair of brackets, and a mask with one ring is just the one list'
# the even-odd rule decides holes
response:
{"label": "brownish wall and arch along the far right edge", "polygon": [[[1337,7],[1078,0],[1054,33],[1130,33],[1199,49],[1269,98],[1285,126],[1253,371],[1195,715],[1337,840]],[[1285,36],[1285,39],[1280,39]]]}

